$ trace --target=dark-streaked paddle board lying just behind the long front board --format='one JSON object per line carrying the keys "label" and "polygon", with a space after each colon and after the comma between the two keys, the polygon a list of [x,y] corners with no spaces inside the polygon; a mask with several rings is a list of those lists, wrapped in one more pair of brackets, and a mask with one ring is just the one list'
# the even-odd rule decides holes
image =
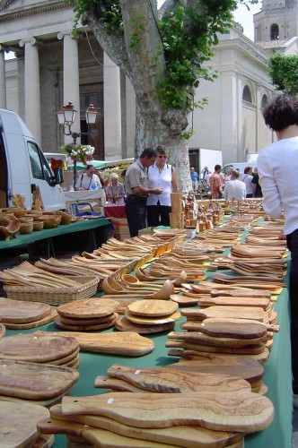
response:
{"label": "dark-streaked paddle board lying just behind the long front board", "polygon": [[[151,392],[182,393],[191,391],[232,392],[251,390],[250,383],[228,375],[210,375],[171,370],[169,368],[137,368],[114,364],[108,376],[125,380],[140,389]],[[141,392],[141,391],[139,391]]]}

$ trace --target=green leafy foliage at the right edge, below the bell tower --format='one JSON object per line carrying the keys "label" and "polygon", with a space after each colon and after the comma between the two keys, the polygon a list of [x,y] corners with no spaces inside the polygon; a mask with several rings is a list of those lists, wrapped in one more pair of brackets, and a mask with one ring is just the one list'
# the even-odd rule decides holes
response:
{"label": "green leafy foliage at the right edge, below the bell tower", "polygon": [[298,55],[274,53],[269,57],[269,76],[276,90],[296,96],[298,93]]}

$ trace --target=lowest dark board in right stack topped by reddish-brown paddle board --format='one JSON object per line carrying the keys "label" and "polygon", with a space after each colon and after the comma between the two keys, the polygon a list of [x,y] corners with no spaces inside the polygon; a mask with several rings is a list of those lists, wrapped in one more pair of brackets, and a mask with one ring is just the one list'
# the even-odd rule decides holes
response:
{"label": "lowest dark board in right stack topped by reddish-brown paddle board", "polygon": [[241,354],[237,354],[237,353],[212,353],[212,352],[208,352],[208,351],[200,351],[200,350],[190,350],[190,349],[170,349],[168,351],[168,355],[169,357],[180,357],[183,359],[187,359],[187,360],[192,360],[192,361],[200,361],[202,358],[206,359],[214,359],[214,358],[222,358],[222,357],[244,357],[244,358],[252,358],[256,361],[258,361],[261,364],[264,364],[267,362],[268,358],[269,358],[269,350],[265,347],[264,351],[262,353],[257,353],[257,354],[252,354],[252,353],[241,353]]}

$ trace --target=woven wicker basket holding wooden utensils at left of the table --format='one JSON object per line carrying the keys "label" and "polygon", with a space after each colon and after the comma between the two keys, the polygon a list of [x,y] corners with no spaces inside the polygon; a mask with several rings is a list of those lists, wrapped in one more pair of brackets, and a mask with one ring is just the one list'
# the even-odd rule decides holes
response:
{"label": "woven wicker basket holding wooden utensils at left of the table", "polygon": [[77,287],[63,288],[41,288],[24,286],[4,286],[8,298],[14,300],[28,300],[31,302],[42,302],[48,305],[59,306],[73,302],[79,298],[92,297],[97,292],[97,277],[74,277],[65,276],[66,279],[77,281]]}

